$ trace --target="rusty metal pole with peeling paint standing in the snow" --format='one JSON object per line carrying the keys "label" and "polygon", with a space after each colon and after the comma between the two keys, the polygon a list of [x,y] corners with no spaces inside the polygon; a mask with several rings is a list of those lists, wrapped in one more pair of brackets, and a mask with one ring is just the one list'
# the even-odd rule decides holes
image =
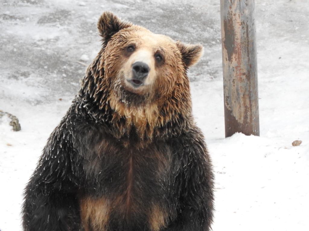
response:
{"label": "rusty metal pole with peeling paint standing in the snow", "polygon": [[225,137],[260,135],[254,0],[220,0]]}

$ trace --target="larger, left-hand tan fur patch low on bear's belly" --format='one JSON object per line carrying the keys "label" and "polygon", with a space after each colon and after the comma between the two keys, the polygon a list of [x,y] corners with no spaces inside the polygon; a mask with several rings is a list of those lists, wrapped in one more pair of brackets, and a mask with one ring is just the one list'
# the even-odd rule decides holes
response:
{"label": "larger, left-hand tan fur patch low on bear's belly", "polygon": [[82,225],[85,231],[105,231],[108,228],[110,203],[104,197],[85,197],[80,201]]}

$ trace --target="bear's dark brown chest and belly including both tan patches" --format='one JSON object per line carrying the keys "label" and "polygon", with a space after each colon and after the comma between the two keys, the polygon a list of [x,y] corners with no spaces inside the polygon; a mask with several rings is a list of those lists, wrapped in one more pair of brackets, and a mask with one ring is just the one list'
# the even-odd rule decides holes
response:
{"label": "bear's dark brown chest and belly including both tan patches", "polygon": [[146,222],[152,230],[164,225],[171,183],[167,144],[135,148],[102,139],[84,155],[86,178],[80,206],[86,230],[95,223],[105,230],[113,225],[110,221],[117,221],[115,229],[119,224],[134,226],[139,222]]}

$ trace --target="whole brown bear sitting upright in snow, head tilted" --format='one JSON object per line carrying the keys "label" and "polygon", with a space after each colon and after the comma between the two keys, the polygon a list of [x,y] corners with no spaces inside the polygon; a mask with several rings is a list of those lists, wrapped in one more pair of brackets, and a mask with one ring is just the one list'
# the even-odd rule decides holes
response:
{"label": "whole brown bear sitting upright in snow, head tilted", "polygon": [[25,231],[210,230],[214,175],[192,115],[185,45],[121,21],[50,135],[25,189]]}

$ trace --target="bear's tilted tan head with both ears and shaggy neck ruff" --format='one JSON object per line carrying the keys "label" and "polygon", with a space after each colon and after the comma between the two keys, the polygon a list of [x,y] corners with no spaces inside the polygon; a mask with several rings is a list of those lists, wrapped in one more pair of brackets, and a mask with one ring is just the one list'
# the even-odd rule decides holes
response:
{"label": "bear's tilted tan head with both ears and shaggy neck ruff", "polygon": [[96,120],[112,123],[119,136],[132,128],[150,139],[188,129],[193,119],[187,69],[203,47],[174,42],[110,12],[101,15],[98,29],[103,46],[80,93]]}

